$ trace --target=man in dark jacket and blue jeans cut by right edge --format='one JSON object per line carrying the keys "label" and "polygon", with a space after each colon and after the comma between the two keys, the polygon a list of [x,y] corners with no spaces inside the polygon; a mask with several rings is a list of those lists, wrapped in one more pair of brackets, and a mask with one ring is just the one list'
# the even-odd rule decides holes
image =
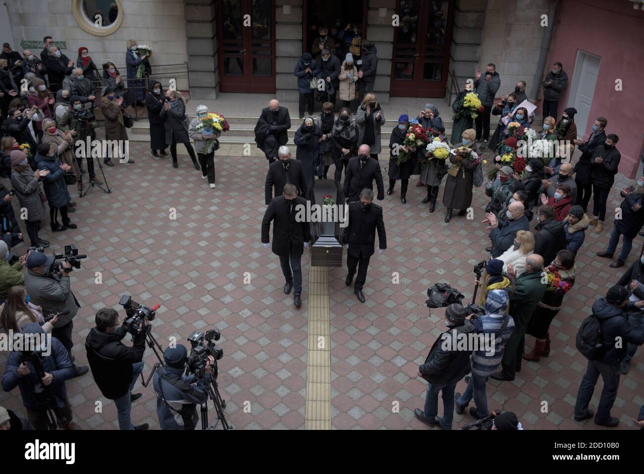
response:
{"label": "man in dark jacket and blue jeans cut by right edge", "polygon": [[612,258],[620,243],[620,235],[624,236],[620,256],[609,265],[612,269],[623,267],[633,247],[633,239],[644,225],[644,176],[638,178],[634,187],[621,191],[621,196],[624,198],[620,204],[621,215],[618,214],[614,220],[608,248],[604,252],[597,252],[598,257]]}

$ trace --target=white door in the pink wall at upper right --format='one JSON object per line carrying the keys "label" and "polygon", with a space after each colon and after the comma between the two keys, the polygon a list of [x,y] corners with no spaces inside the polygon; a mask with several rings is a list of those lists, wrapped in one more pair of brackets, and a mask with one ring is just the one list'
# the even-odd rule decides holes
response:
{"label": "white door in the pink wall at upper right", "polygon": [[588,128],[591,113],[592,95],[595,91],[597,75],[600,71],[601,58],[582,51],[578,52],[573,73],[573,87],[569,97],[569,107],[577,109],[574,122],[577,124],[577,136],[583,137]]}

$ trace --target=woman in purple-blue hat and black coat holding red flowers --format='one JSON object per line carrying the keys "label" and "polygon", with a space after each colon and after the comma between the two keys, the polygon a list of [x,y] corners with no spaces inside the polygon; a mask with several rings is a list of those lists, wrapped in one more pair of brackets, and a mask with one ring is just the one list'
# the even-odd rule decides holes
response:
{"label": "woman in purple-blue hat and black coat holding red flowers", "polygon": [[[409,116],[403,113],[389,140],[389,189],[391,196],[397,180],[401,180],[401,202],[407,204],[409,178],[416,166],[417,149],[426,143],[427,135],[419,124],[409,126]],[[419,145],[420,143],[420,145]]]}

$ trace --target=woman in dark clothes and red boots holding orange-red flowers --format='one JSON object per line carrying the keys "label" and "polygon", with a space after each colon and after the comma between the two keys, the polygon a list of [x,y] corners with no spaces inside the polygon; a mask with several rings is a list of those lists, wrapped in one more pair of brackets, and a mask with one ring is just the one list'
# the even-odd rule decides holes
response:
{"label": "woman in dark clothes and red boots holding orange-red flowers", "polygon": [[526,333],[536,337],[535,348],[529,354],[524,354],[526,361],[538,362],[541,357],[550,355],[549,328],[554,317],[562,308],[565,294],[574,285],[576,269],[574,255],[569,250],[557,252],[553,263],[545,269],[547,287],[544,297],[533,312],[527,325]]}

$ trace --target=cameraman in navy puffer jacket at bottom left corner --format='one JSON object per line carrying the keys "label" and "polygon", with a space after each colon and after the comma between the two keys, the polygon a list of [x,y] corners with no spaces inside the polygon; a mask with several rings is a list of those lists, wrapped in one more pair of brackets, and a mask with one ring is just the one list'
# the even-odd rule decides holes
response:
{"label": "cameraman in navy puffer jacket at bottom left corner", "polygon": [[[44,329],[39,323],[30,323],[24,327],[23,334],[35,338],[37,334],[44,335]],[[20,389],[27,417],[35,430],[50,429],[50,410],[56,413],[59,428],[80,430],[81,428],[72,421],[73,415],[65,388],[65,381],[74,377],[73,366],[61,342],[55,337],[52,337],[51,341],[51,348],[47,348],[50,355],[12,351],[2,376],[2,388],[5,392],[10,392],[16,387]],[[32,360],[23,361],[25,355]],[[37,367],[43,370],[43,377],[39,376]]]}

